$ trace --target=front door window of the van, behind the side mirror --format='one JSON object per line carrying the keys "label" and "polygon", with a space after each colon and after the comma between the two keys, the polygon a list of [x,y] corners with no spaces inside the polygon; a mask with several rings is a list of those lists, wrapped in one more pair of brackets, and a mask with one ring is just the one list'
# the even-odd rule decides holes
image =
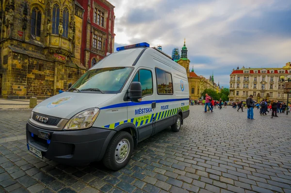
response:
{"label": "front door window of the van, behind the side mirror", "polygon": [[142,84],[143,97],[153,94],[153,76],[150,70],[139,70],[132,81],[140,82]]}

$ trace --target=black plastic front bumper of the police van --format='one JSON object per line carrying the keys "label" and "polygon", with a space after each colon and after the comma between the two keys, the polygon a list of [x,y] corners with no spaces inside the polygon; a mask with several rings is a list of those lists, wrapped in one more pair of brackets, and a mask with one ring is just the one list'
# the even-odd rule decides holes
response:
{"label": "black plastic front bumper of the police van", "polygon": [[[49,133],[49,140],[39,138],[38,131]],[[26,125],[26,139],[29,145],[40,150],[43,157],[68,165],[85,165],[100,161],[115,133],[115,130],[101,128],[51,131],[37,128],[30,123]]]}

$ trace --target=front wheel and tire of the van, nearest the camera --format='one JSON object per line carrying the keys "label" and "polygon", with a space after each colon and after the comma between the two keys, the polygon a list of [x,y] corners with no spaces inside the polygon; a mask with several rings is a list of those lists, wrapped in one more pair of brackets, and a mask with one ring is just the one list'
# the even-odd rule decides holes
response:
{"label": "front wheel and tire of the van, nearest the camera", "polygon": [[117,171],[125,167],[133,152],[132,136],[125,131],[117,132],[109,142],[103,164],[111,170]]}

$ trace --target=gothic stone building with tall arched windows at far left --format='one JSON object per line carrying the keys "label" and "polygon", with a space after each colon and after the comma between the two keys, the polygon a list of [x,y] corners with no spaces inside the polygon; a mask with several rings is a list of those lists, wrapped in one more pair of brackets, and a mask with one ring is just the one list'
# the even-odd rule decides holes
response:
{"label": "gothic stone building with tall arched windows at far left", "polygon": [[86,71],[74,0],[0,0],[0,96],[46,98]]}

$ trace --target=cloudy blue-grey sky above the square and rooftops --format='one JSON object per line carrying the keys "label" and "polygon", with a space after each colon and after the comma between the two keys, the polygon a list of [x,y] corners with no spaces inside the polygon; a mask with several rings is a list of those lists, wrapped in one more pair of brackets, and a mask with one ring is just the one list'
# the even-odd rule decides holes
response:
{"label": "cloudy blue-grey sky above the square and rooftops", "polygon": [[115,48],[147,42],[188,48],[190,69],[229,87],[233,68],[291,61],[291,0],[109,0]]}

